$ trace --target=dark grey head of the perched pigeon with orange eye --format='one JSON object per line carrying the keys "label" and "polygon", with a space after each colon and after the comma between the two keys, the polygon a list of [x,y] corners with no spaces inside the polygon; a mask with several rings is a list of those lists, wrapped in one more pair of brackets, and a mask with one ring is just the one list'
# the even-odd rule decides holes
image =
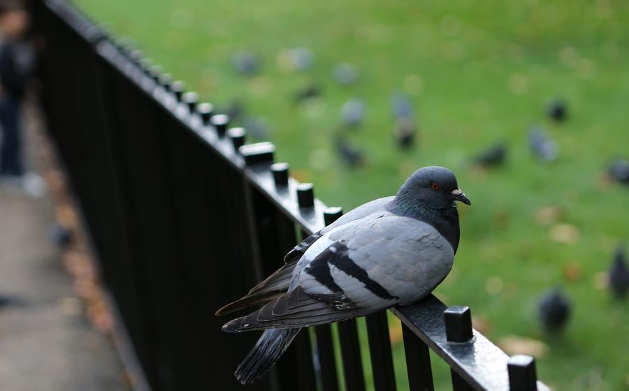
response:
{"label": "dark grey head of the perched pigeon with orange eye", "polygon": [[419,202],[424,207],[443,209],[454,201],[472,205],[461,189],[458,189],[456,177],[447,168],[436,165],[423,167],[413,172],[400,187],[396,199]]}

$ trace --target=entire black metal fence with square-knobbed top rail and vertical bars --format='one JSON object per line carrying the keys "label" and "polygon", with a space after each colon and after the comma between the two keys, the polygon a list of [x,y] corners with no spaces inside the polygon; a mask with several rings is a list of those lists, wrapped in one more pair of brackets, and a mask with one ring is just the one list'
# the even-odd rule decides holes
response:
{"label": "entire black metal fence with square-knobbed top rail and vertical bars", "polygon": [[[133,351],[152,390],[232,390],[256,333],[225,334],[214,311],[273,272],[298,237],[340,215],[273,164],[270,143],[184,94],[138,52],[62,0],[34,4],[41,82],[59,149]],[[546,390],[530,357],[509,358],[466,307],[432,295],[391,310],[411,390],[433,390],[428,349],[455,390]],[[366,317],[375,390],[395,390],[386,314]],[[256,390],[365,390],[356,320],[302,332]],[[344,376],[338,374],[342,370]],[[344,378],[344,384],[340,384]]]}

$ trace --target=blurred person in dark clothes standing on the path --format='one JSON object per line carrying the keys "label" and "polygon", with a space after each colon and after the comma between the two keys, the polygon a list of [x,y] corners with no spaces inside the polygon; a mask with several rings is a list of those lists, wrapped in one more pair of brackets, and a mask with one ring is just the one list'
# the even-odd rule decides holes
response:
{"label": "blurred person in dark clothes standing on the path", "polygon": [[34,53],[25,39],[30,17],[19,0],[0,0],[0,183],[29,192],[25,175],[20,109]]}

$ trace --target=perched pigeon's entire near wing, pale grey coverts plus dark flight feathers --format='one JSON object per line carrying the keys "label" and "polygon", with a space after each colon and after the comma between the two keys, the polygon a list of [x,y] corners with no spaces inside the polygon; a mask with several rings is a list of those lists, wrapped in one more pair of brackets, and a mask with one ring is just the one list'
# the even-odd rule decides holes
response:
{"label": "perched pigeon's entire near wing, pale grey coverts plus dark flight feathers", "polygon": [[298,262],[289,293],[223,330],[321,325],[408,304],[444,278],[453,258],[428,224],[374,214],[322,235]]}

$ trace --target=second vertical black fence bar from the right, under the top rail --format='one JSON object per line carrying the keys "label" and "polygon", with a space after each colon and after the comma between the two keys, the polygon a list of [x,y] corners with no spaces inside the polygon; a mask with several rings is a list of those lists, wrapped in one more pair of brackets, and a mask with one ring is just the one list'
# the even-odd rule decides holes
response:
{"label": "second vertical black fence bar from the right, under the top rail", "polygon": [[402,335],[410,391],[435,390],[428,345],[424,344],[424,341],[421,341],[404,323],[402,323]]}

